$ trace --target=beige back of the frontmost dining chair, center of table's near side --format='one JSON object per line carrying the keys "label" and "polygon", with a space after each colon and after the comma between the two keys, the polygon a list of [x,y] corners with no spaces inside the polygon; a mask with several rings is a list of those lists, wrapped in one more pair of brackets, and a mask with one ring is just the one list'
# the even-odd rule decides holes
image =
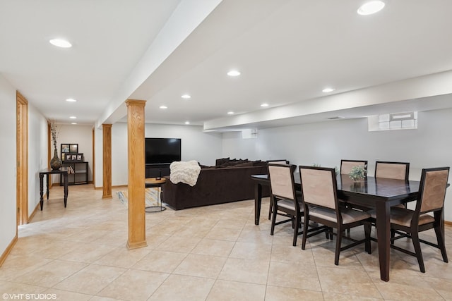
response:
{"label": "beige back of the frontmost dining chair, center of table's near side", "polygon": [[334,168],[299,166],[299,177],[304,202],[330,209],[338,208]]}

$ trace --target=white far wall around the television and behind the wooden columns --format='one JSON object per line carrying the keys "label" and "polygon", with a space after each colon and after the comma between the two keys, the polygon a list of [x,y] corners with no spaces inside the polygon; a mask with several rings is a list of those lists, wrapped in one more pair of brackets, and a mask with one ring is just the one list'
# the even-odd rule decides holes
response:
{"label": "white far wall around the television and behind the wooden columns", "polygon": [[[102,133],[102,130],[100,132]],[[97,135],[96,131],[96,153],[102,152],[102,136],[99,142],[97,136],[100,135]],[[203,165],[214,165],[215,159],[222,153],[222,135],[203,133],[201,126],[145,124],[145,137],[181,138],[182,161],[196,160]],[[102,164],[97,166],[99,169],[96,169],[96,180],[99,179],[100,182],[96,183],[96,186],[101,187]],[[127,123],[114,123],[112,125],[112,185],[127,185],[127,176]]]}

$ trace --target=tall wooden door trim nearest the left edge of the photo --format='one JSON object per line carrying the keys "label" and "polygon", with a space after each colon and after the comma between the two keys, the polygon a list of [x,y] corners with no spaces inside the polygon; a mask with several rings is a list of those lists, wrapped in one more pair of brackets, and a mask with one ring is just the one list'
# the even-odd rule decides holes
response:
{"label": "tall wooden door trim nearest the left edge of the photo", "polygon": [[18,91],[16,91],[16,207],[17,226],[28,223],[28,100]]}

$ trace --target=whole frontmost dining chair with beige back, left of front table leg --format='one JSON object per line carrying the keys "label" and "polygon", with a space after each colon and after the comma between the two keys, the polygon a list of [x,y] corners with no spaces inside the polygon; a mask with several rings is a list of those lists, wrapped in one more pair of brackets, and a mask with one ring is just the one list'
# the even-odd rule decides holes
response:
{"label": "whole frontmost dining chair with beige back, left of front table leg", "polygon": [[[365,211],[339,206],[337,196],[337,183],[334,168],[314,166],[299,166],[299,176],[302,185],[302,202],[304,204],[304,235],[302,238],[302,250],[306,247],[306,240],[311,236],[331,231],[336,235],[334,264],[339,264],[339,255],[343,250],[365,243],[365,250],[370,254],[370,214]],[[307,232],[309,221],[315,221],[326,228]],[[343,231],[349,228],[364,225],[365,238],[355,240],[343,236]],[[337,229],[333,233],[332,229]],[[342,239],[352,240],[352,243],[341,247]]]}

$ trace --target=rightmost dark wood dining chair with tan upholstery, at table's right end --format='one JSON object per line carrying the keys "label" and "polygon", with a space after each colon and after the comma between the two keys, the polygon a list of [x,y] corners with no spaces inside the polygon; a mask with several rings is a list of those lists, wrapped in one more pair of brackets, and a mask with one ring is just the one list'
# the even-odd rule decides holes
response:
{"label": "rightmost dark wood dining chair with tan upholstery, at table's right end", "polygon": [[[443,261],[448,262],[444,245],[444,198],[448,176],[449,167],[422,169],[416,209],[391,207],[391,247],[416,257],[422,273],[425,273],[425,267],[420,242],[441,250]],[[375,211],[370,211],[370,214],[373,219],[376,218]],[[420,232],[432,228],[436,234],[436,244],[419,238]],[[415,252],[393,244],[394,240],[404,237],[411,238]]]}

